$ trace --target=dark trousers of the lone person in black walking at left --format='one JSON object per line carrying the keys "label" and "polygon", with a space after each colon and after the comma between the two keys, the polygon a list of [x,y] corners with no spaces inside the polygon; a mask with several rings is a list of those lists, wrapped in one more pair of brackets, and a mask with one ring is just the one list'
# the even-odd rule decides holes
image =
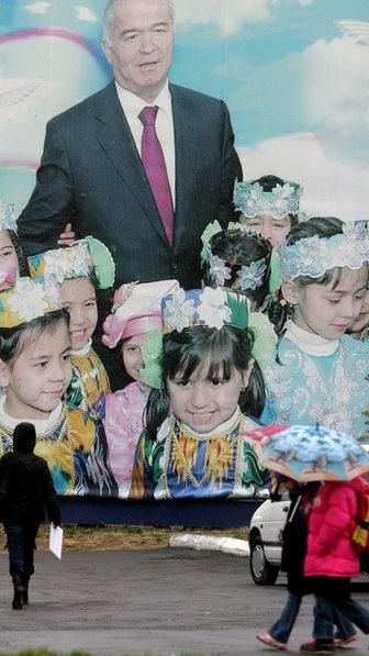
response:
{"label": "dark trousers of the lone person in black walking at left", "polygon": [[20,572],[32,576],[34,572],[33,553],[40,524],[4,524],[10,574]]}

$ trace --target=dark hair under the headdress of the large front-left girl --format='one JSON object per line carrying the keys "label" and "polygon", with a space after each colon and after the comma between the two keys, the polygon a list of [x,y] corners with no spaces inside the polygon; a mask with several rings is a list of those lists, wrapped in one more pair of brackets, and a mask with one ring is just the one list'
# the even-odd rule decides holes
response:
{"label": "dark hair under the headdress of the large front-left girl", "polygon": [[0,329],[0,359],[12,367],[14,359],[29,344],[35,342],[44,332],[53,334],[60,321],[69,325],[69,314],[66,310],[48,312],[15,327]]}

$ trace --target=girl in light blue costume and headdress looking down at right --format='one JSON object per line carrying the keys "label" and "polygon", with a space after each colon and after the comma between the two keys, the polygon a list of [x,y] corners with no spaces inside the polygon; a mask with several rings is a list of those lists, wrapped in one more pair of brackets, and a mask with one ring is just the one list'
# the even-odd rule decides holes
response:
{"label": "girl in light blue costume and headdress looking down at right", "polygon": [[334,218],[312,218],[278,246],[282,293],[291,313],[278,362],[265,370],[261,420],[365,433],[368,345],[346,335],[368,282],[369,235]]}

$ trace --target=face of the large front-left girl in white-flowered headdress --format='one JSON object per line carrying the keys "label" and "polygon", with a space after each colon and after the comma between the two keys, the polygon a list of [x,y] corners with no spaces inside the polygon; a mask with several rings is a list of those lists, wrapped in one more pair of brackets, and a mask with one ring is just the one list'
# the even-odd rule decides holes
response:
{"label": "face of the large front-left girl in white-flowered headdress", "polygon": [[5,411],[14,419],[46,420],[71,379],[70,338],[65,320],[27,342],[11,364],[1,363]]}

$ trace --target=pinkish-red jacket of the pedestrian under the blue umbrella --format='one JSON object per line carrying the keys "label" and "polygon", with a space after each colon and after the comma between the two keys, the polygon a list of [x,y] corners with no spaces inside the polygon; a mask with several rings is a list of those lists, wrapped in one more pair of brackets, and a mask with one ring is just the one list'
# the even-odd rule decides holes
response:
{"label": "pinkish-red jacket of the pedestrian under the blue umbrella", "polygon": [[361,477],[322,483],[309,515],[305,576],[350,578],[359,574],[351,534],[358,513],[356,490],[367,489],[369,486]]}

